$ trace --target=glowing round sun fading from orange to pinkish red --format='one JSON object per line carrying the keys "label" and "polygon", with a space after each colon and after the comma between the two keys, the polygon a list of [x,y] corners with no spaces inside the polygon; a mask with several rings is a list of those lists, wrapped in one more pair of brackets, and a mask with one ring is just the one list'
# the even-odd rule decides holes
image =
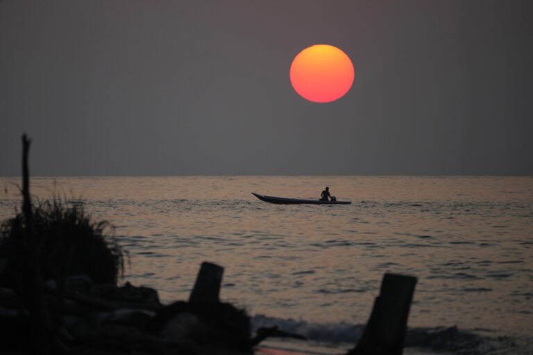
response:
{"label": "glowing round sun fading from orange to pinkish red", "polygon": [[315,103],[329,103],[344,96],[352,87],[353,64],[335,46],[307,47],[292,61],[291,84],[300,96]]}

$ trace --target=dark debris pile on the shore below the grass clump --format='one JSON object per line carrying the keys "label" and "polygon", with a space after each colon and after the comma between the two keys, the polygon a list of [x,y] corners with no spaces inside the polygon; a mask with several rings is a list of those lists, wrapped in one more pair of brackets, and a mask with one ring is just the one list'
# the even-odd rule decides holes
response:
{"label": "dark debris pile on the shore below the grass clump", "polygon": [[69,277],[44,286],[40,318],[0,288],[1,354],[253,353],[250,318],[223,302],[160,303],[153,288]]}

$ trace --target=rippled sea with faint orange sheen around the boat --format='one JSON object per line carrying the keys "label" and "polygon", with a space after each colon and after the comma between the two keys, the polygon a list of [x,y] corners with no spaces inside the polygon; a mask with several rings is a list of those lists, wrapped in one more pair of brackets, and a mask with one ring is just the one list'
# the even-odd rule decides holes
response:
{"label": "rippled sea with faint orange sheen around the boat", "polygon": [[[0,178],[0,220],[20,210]],[[272,205],[268,196],[351,205]],[[418,278],[405,354],[533,354],[533,177],[32,178],[34,198],[83,203],[129,254],[121,282],[187,300],[203,261],[221,300],[310,354],[353,347],[385,272]]]}

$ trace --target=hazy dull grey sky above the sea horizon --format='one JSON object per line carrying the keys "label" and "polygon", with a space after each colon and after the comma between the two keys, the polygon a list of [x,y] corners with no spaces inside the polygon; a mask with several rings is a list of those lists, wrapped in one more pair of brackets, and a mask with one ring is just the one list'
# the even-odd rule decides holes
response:
{"label": "hazy dull grey sky above the sea horizon", "polygon": [[[533,175],[533,1],[0,0],[0,175]],[[334,103],[289,67],[353,60]]]}

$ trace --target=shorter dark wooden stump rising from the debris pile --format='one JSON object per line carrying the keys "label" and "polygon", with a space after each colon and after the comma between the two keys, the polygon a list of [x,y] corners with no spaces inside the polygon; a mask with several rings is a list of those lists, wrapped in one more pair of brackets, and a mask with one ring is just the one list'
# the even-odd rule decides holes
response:
{"label": "shorter dark wooden stump rising from the debris pile", "polygon": [[196,277],[189,302],[219,302],[224,268],[204,261]]}

